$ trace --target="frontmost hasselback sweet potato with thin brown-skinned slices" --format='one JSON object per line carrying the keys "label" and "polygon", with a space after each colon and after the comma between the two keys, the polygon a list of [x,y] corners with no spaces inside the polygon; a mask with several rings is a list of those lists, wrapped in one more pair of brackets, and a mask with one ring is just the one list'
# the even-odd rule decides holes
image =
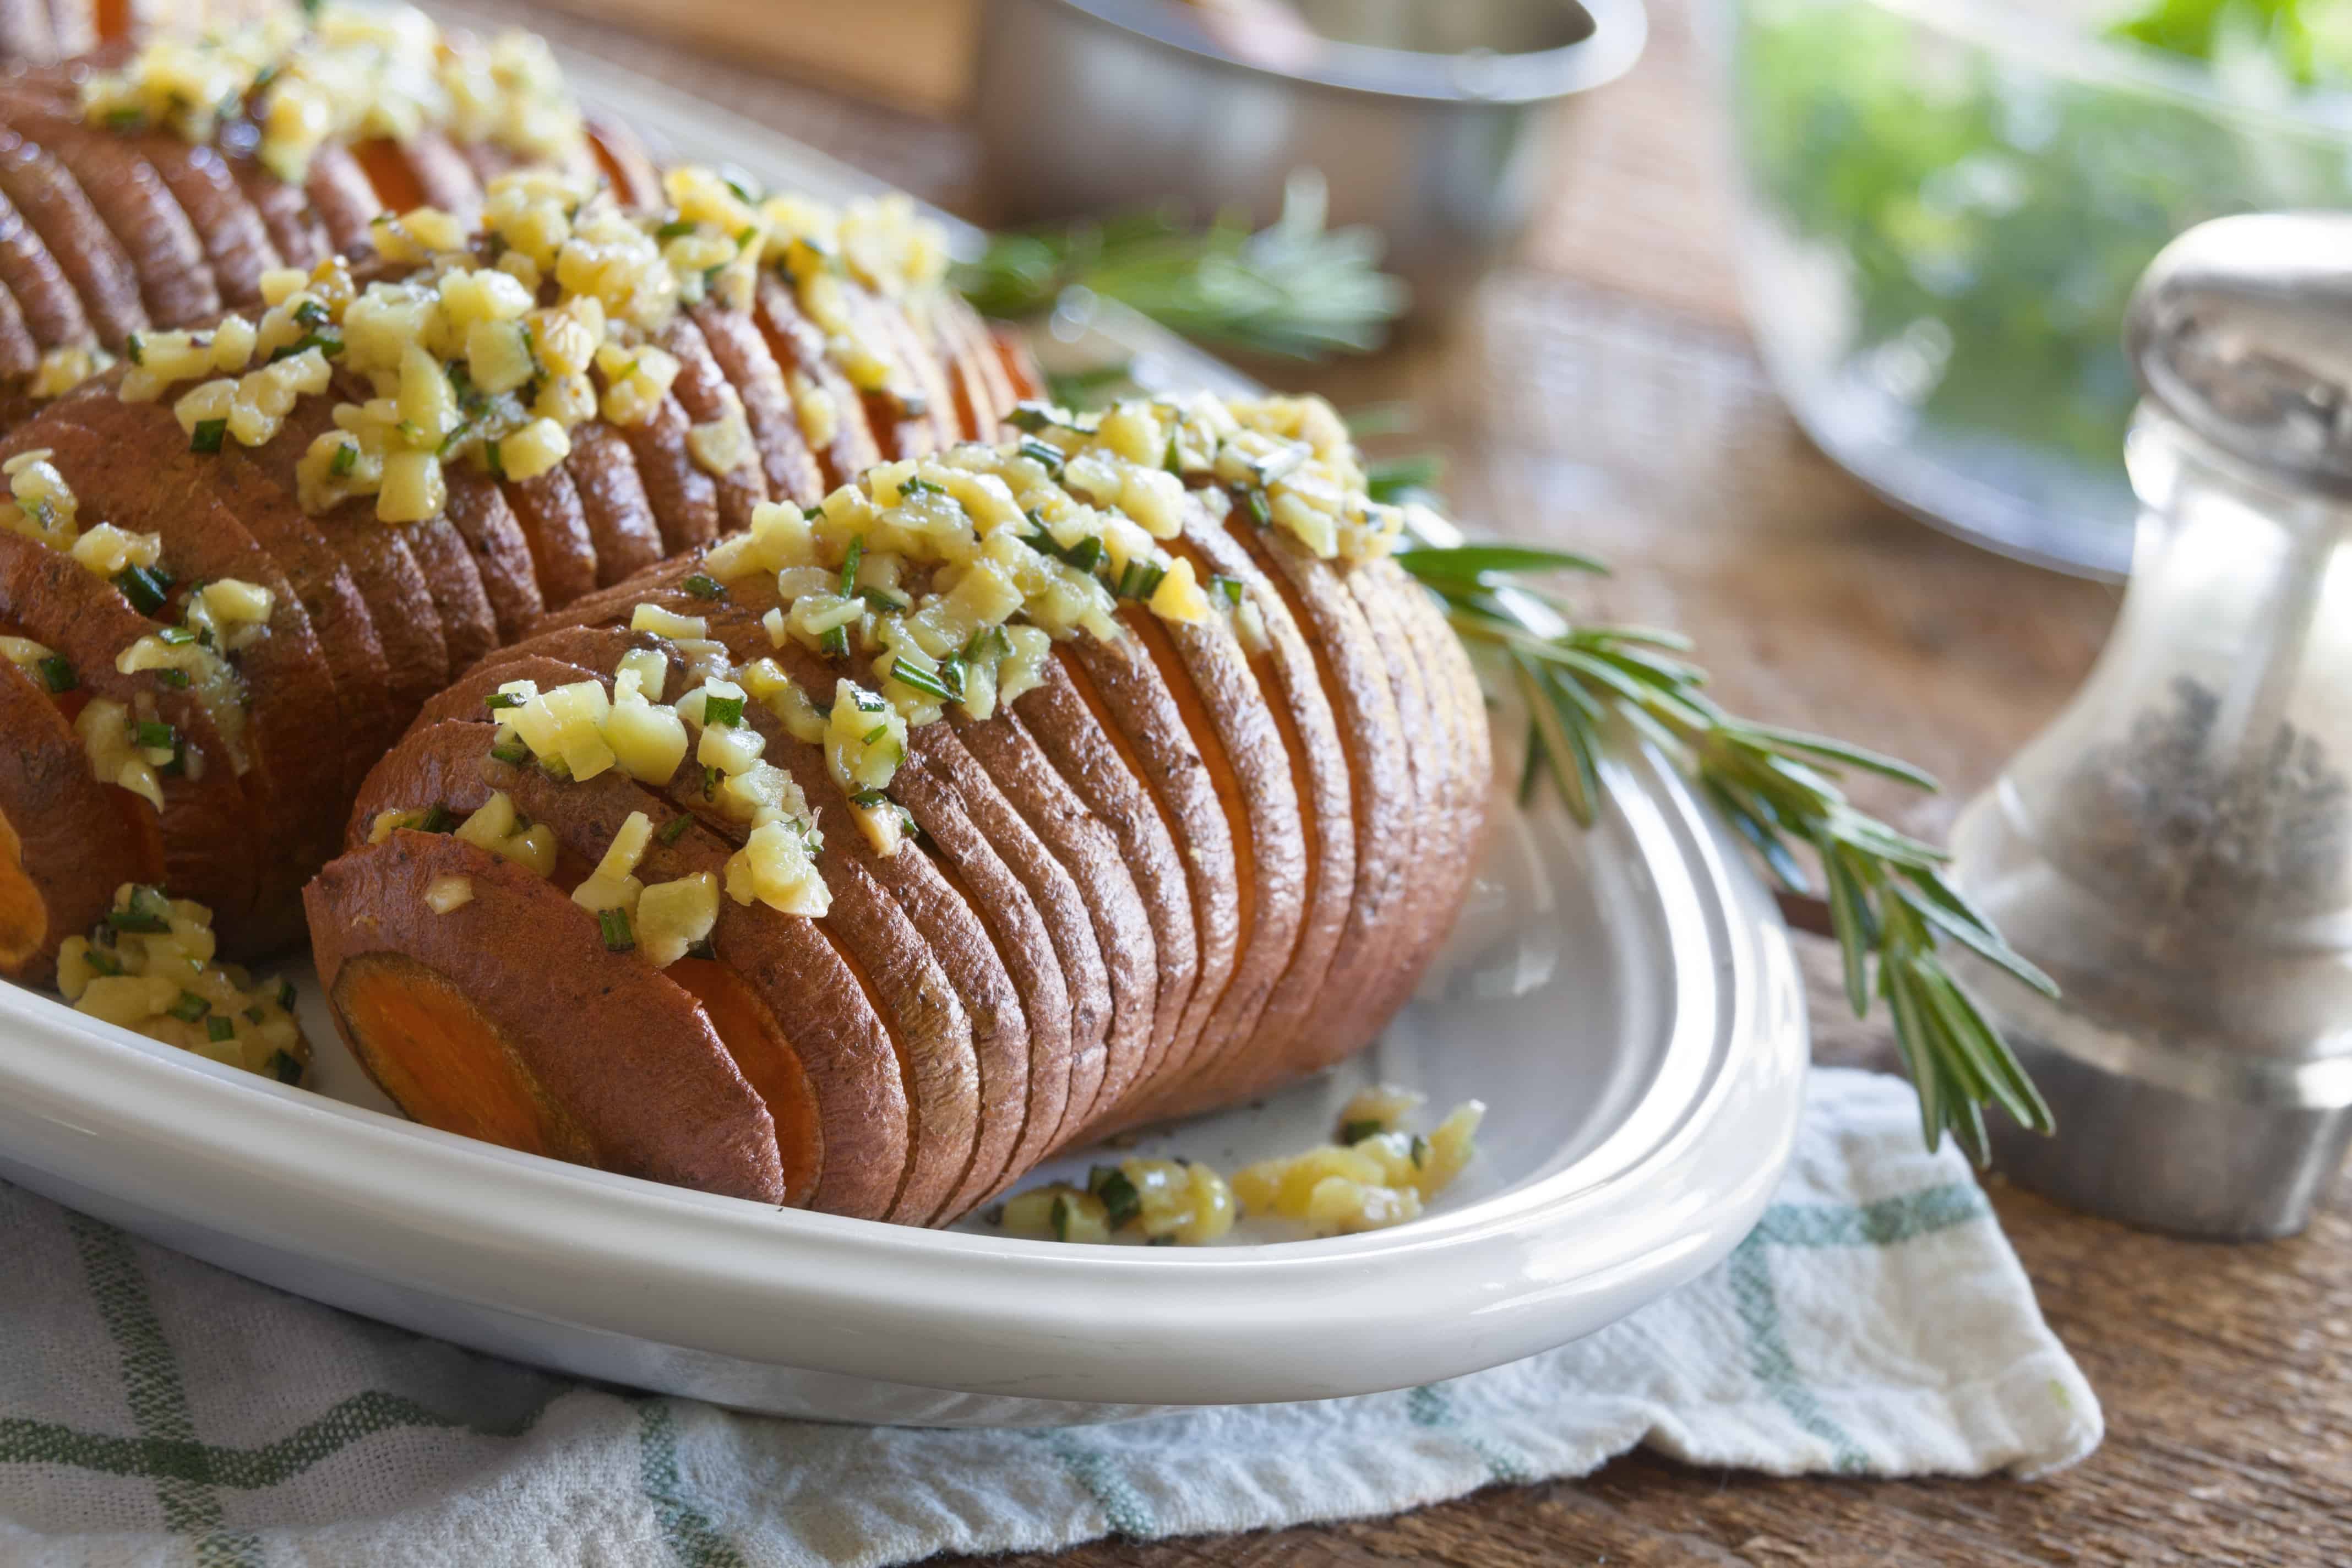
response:
{"label": "frontmost hasselback sweet potato with thin brown-skinned slices", "polygon": [[[1155,409],[1155,418],[1178,418],[1176,404]],[[1190,425],[1171,428],[1169,468],[1178,468]],[[1056,440],[1068,451],[1054,473],[1094,461],[1091,430]],[[414,842],[430,830],[463,837],[468,813],[494,795],[562,839],[548,882],[602,907],[609,940],[593,964],[626,969],[630,985],[708,987],[708,969],[680,964],[734,971],[729,954],[753,933],[786,931],[849,976],[818,997],[739,973],[790,1041],[800,1065],[790,1084],[809,1084],[814,1124],[826,1128],[811,1185],[788,1201],[943,1222],[1061,1147],[1261,1093],[1359,1048],[1385,1023],[1451,924],[1484,825],[1484,705],[1461,646],[1378,550],[1317,555],[1291,529],[1230,503],[1235,487],[1197,461],[1183,463],[1181,527],[1162,534],[1152,559],[1214,569],[1195,576],[1211,585],[1204,602],[1216,609],[1200,614],[1181,592],[1164,602],[1136,576],[1141,555],[1110,569],[1091,545],[1044,543],[1042,520],[1061,515],[1054,501],[1040,510],[1040,498],[1061,491],[1044,468],[1021,468],[1028,458],[1016,451],[960,447],[931,463],[882,465],[849,489],[863,501],[835,494],[811,520],[764,515],[748,541],[691,550],[553,611],[428,703],[362,792],[348,851],[308,893],[313,929],[346,933],[332,964],[322,950],[339,1023],[362,1060],[388,1063],[379,1077],[395,1098],[397,1081],[447,1070],[449,1034],[343,1006],[336,964],[419,952],[414,933],[442,917],[416,898],[400,903],[397,889],[414,882],[405,870]],[[974,562],[1009,559],[978,524],[978,555],[962,564],[953,552],[927,562],[903,534],[915,512],[938,520],[946,501],[931,496],[948,487],[962,487],[955,505],[967,515],[985,510],[993,491],[974,475],[1004,475],[1030,503],[1007,538],[1061,550],[1065,564],[1075,555],[1084,571],[1108,574],[1091,581],[1127,590],[1094,599],[1110,607],[1110,625],[1044,644],[1023,682],[1007,675],[1007,691],[1023,689],[978,712],[946,696],[927,708],[934,675],[913,675],[910,691],[898,661],[913,656],[884,630],[894,616],[941,614],[981,571]],[[1101,515],[1120,515],[1120,484],[1101,470],[1070,484],[1091,487]],[[1211,496],[1228,503],[1211,505]],[[1279,489],[1275,503],[1287,503]],[[835,534],[856,529],[856,548],[835,555],[826,520]],[[1103,538],[1112,534],[1117,522]],[[837,644],[807,637],[795,616],[828,602],[818,569],[866,583],[858,574],[884,548],[889,585],[861,588],[870,599],[863,630]],[[814,564],[793,564],[795,550],[814,552]],[[1054,571],[1037,581],[1075,581]],[[1028,592],[1035,609],[1040,590]],[[983,665],[1011,670],[969,649],[936,663],[955,668],[955,682],[978,682]],[[562,762],[576,752],[536,750],[522,715],[583,701],[581,691],[621,715],[642,701],[649,670],[656,703],[668,696],[677,712],[706,715],[691,731],[703,736],[699,750],[666,752],[619,783],[635,759],[581,783]],[[967,698],[974,689],[962,686]],[[854,764],[840,762],[842,748],[856,748],[837,715],[884,691],[894,698],[873,698],[868,745],[891,710],[917,717],[887,788],[856,790],[861,776],[844,776]],[[710,719],[710,703],[727,712]],[[851,731],[866,722],[854,717]],[[750,766],[788,778],[816,823],[821,849],[809,867],[823,896],[814,905],[783,907],[748,891],[760,823],[774,813],[729,809],[731,780],[750,773],[727,773],[708,745],[717,736],[734,748],[739,733],[753,736],[762,759]],[[720,882],[734,891],[710,905],[694,947],[701,957],[666,961],[652,936],[659,917],[630,926],[633,910],[609,903],[612,884],[597,882],[612,875],[600,860],[607,844],[628,837],[628,802],[647,825],[675,820],[677,842],[727,849]],[[901,813],[901,825],[870,832],[877,811]],[[1371,830],[1402,844],[1371,842]],[[635,910],[649,912],[675,863],[633,865],[644,884]],[[372,924],[350,933],[362,910]],[[1160,933],[1174,938],[1174,961]],[[480,985],[489,1009],[501,999],[494,985],[532,966],[529,940],[517,931],[456,950],[435,938],[435,994],[473,997]],[[708,1016],[739,1056],[764,1037],[764,1020]],[[574,1048],[593,1058],[600,1044],[581,1032]],[[873,1100],[880,1060],[896,1060],[903,1147],[868,1140],[851,1150],[830,1128],[851,1124],[844,1098]],[[546,1081],[532,1095],[562,1105]],[[412,1112],[437,1114],[430,1103]],[[699,1131],[680,1119],[670,1135],[691,1143]],[[873,1164],[889,1159],[901,1164]]]}

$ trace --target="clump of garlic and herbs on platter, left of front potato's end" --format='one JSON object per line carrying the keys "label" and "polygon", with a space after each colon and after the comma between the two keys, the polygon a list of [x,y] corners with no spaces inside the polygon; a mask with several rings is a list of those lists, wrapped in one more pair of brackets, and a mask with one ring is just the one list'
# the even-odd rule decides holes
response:
{"label": "clump of garlic and herbs on platter, left of front potato's end", "polygon": [[256,985],[212,954],[212,910],[122,884],[115,907],[87,938],[59,945],[56,990],[92,1018],[299,1084],[310,1044],[294,1023],[294,987]]}

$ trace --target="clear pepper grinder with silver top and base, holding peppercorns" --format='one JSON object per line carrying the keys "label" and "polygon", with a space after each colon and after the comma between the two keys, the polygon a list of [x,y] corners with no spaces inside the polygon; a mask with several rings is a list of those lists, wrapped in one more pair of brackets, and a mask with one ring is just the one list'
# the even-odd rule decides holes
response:
{"label": "clear pepper grinder with silver top and base, holding peppercorns", "polygon": [[2352,216],[2192,228],[2131,301],[2122,618],[1969,804],[1969,961],[2058,1119],[1994,1159],[2194,1237],[2310,1222],[2352,1143]]}

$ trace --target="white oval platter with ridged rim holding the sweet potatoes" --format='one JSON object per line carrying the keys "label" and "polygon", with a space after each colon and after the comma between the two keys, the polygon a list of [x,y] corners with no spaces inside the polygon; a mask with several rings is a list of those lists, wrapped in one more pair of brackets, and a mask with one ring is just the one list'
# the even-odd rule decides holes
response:
{"label": "white oval platter with ridged rim holding the sweet potatoes", "polygon": [[[687,158],[821,193],[870,186],[609,68],[581,63],[576,80]],[[1058,329],[1082,339],[1073,353],[1138,355],[1152,381],[1240,383],[1117,313]],[[1496,729],[1510,778],[1517,726]],[[1470,1373],[1717,1262],[1797,1126],[1804,1001],[1771,898],[1653,755],[1625,750],[1609,771],[1592,832],[1548,795],[1534,811],[1498,795],[1446,954],[1367,1056],[1143,1140],[1232,1168],[1327,1138],[1374,1079],[1437,1112],[1484,1100],[1479,1159],[1399,1229],[1056,1246],[564,1166],[386,1114],[315,983],[318,1091],[0,987],[0,1178],[367,1316],[783,1415],[1065,1425]]]}

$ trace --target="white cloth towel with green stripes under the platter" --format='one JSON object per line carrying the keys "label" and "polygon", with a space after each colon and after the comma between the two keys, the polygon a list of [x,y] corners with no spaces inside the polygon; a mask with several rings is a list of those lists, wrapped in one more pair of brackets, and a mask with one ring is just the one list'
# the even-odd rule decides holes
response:
{"label": "white cloth towel with green stripes under the platter", "polygon": [[1773,1474],[2042,1474],[2100,1413],[1910,1091],[1818,1070],[1712,1274],[1444,1385],[1070,1432],[731,1415],[508,1366],[0,1187],[0,1561],[903,1563],[1390,1514],[1635,1443]]}

